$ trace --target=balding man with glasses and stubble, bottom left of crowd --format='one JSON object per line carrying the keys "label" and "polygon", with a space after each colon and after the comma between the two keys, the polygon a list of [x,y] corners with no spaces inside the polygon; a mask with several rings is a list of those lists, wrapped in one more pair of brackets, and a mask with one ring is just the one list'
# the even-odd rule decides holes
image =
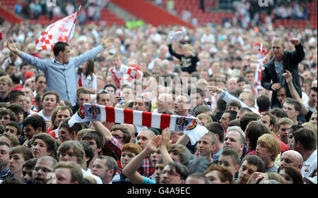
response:
{"label": "balding man with glasses and stubble, bottom left of crowd", "polygon": [[32,173],[33,184],[47,184],[54,175],[54,166],[57,164],[57,160],[52,156],[42,156],[37,160],[35,168]]}

